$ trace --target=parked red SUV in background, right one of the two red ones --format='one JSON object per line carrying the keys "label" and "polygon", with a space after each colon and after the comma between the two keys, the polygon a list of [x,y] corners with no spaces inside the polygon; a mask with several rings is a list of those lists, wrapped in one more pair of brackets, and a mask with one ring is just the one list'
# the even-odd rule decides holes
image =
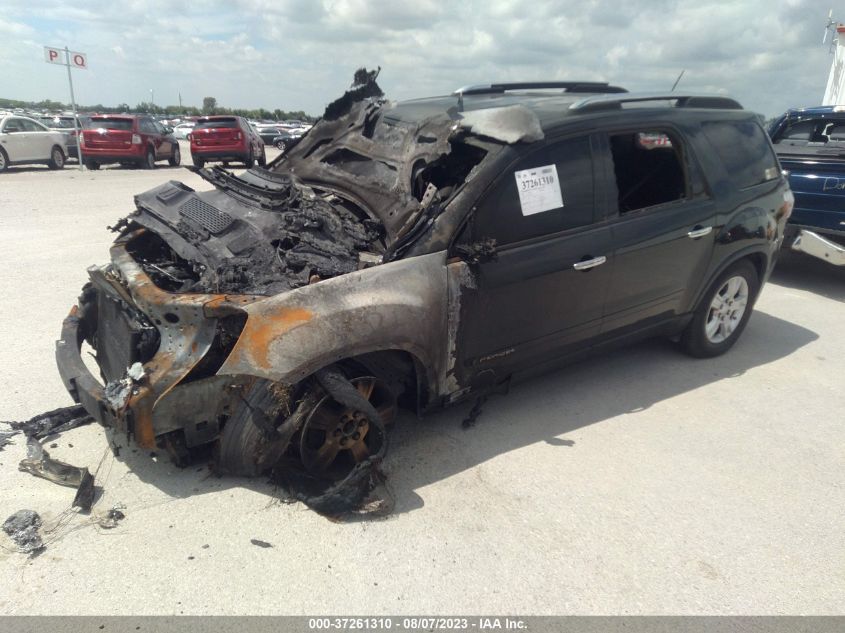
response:
{"label": "parked red SUV in background, right one of the two red ones", "polygon": [[195,167],[201,168],[209,160],[234,160],[247,169],[256,160],[262,167],[267,164],[264,142],[249,121],[240,116],[201,117],[188,138]]}

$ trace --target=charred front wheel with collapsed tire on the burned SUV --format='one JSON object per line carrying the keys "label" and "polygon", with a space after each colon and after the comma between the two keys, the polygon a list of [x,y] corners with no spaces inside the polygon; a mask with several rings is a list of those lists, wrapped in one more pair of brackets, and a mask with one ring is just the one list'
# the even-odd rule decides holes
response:
{"label": "charred front wheel with collapsed tire on the burned SUV", "polygon": [[223,427],[216,469],[256,476],[290,452],[299,454],[311,475],[341,479],[383,452],[381,429],[396,415],[396,396],[371,376],[344,382],[346,390],[337,398],[314,380],[296,402],[281,403],[272,383],[257,382]]}

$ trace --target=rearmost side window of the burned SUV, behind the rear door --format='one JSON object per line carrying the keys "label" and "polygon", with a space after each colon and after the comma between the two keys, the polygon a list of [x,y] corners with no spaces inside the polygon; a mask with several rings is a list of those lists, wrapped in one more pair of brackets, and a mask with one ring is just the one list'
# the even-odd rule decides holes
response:
{"label": "rearmost side window of the burned SUV, behind the rear door", "polygon": [[[739,188],[759,185],[780,174],[769,137],[754,121],[708,121],[701,127]],[[813,130],[801,128],[794,133],[812,138]]]}

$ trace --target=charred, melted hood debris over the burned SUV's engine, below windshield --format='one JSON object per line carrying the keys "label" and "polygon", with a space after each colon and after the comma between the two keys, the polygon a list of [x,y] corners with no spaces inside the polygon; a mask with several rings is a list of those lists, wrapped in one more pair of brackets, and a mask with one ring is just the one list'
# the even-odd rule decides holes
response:
{"label": "charred, melted hood debris over the burned SUV's engine, below windshield", "polygon": [[201,175],[214,190],[170,181],[120,226],[149,229],[129,250],[165,290],[269,295],[380,261],[380,223],[348,200],[265,170]]}

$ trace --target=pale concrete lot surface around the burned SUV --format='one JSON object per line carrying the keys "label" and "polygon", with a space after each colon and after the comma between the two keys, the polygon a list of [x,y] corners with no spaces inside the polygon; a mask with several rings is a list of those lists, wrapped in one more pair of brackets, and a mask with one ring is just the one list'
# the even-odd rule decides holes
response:
{"label": "pale concrete lot surface around the burned SUV", "polygon": [[[188,157],[187,151],[184,156]],[[0,175],[0,419],[70,404],[62,318],[107,260],[106,225],[184,169]],[[0,451],[0,520],[41,514],[47,548],[0,533],[2,614],[831,614],[845,605],[845,273],[790,256],[729,354],[664,341],[593,358],[425,420],[386,462],[395,512],[333,523],[263,480],[178,470],[97,425],[52,456],[73,490]],[[126,519],[96,525],[113,505]],[[251,539],[272,544],[257,547]]]}

